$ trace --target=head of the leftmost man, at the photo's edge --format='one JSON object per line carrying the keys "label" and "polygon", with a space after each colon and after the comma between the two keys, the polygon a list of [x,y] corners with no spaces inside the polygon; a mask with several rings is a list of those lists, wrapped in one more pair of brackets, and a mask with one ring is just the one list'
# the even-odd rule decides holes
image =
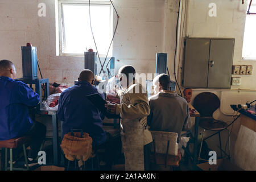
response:
{"label": "head of the leftmost man, at the photo's edge", "polygon": [[6,76],[12,79],[16,77],[16,69],[13,62],[9,60],[0,61],[0,76]]}

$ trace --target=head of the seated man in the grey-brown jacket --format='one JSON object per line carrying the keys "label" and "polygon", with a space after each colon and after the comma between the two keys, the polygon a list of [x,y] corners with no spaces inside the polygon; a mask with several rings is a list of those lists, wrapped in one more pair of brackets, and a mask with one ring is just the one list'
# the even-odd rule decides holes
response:
{"label": "head of the seated man in the grey-brown jacket", "polygon": [[157,94],[160,90],[170,90],[170,77],[166,74],[156,76],[152,82],[154,93]]}

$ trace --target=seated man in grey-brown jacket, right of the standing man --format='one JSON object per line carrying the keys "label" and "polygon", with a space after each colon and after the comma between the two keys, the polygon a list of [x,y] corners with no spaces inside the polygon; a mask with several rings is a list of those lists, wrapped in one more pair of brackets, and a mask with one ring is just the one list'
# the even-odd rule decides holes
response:
{"label": "seated man in grey-brown jacket, right of the standing man", "polygon": [[181,131],[191,128],[191,119],[187,101],[170,90],[170,81],[166,74],[160,74],[152,81],[154,96],[148,98],[150,115],[147,119],[150,130],[177,133],[179,143]]}

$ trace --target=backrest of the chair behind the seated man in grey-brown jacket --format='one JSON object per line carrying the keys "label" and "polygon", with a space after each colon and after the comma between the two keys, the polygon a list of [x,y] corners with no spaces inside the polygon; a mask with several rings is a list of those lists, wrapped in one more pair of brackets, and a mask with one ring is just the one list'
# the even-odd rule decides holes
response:
{"label": "backrest of the chair behind the seated man in grey-brown jacket", "polygon": [[167,154],[168,150],[169,155],[177,155],[177,133],[167,131],[151,131],[151,134],[154,140],[154,148],[152,148],[152,152],[155,151],[158,154]]}

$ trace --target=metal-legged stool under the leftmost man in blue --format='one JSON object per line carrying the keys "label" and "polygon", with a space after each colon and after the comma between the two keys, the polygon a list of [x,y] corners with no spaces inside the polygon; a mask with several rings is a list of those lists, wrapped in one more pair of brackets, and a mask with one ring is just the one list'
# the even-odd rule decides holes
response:
{"label": "metal-legged stool under the leftmost man in blue", "polygon": [[[5,171],[7,171],[7,169],[10,169],[10,171],[13,171],[13,169],[22,170],[22,171],[29,170],[28,162],[27,162],[27,152],[26,152],[26,146],[25,146],[25,144],[28,143],[29,141],[30,141],[29,137],[19,137],[19,138],[0,141],[0,148],[5,148]],[[18,148],[21,145],[23,147],[24,158],[25,158],[25,163],[27,168],[13,168],[13,149]],[[8,148],[10,150],[10,167],[7,167]]]}

